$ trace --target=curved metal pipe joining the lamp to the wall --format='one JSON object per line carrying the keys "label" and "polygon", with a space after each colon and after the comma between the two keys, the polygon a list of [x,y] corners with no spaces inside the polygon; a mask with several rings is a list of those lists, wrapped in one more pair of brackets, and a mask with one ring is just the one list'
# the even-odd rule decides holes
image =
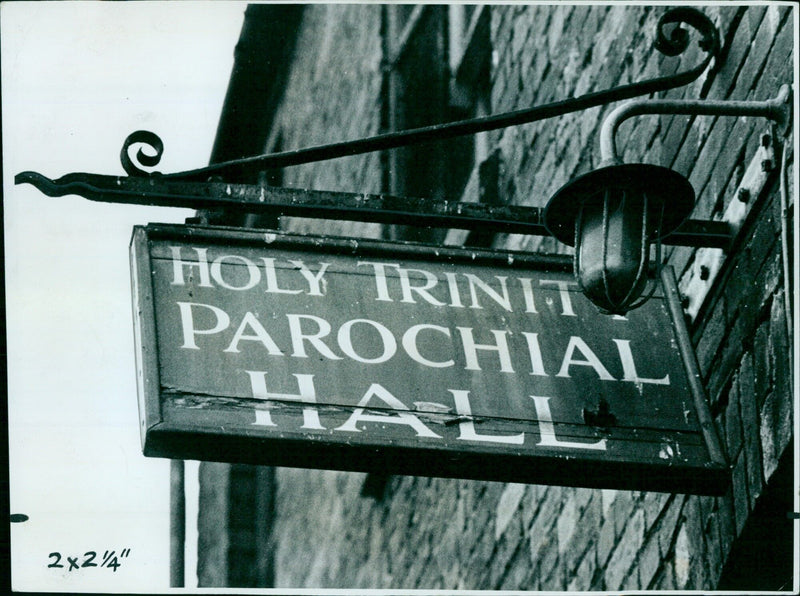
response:
{"label": "curved metal pipe joining the lamp to the wall", "polygon": [[636,99],[611,111],[600,129],[602,164],[621,163],[615,136],[628,118],[648,114],[685,114],[693,116],[758,116],[783,126],[789,119],[791,87],[781,85],[778,95],[765,101],[726,101],[712,99]]}

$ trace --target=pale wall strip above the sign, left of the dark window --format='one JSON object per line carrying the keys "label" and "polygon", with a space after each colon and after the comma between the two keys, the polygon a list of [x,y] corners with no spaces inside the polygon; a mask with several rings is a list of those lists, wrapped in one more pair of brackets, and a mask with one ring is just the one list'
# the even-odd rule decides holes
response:
{"label": "pale wall strip above the sign, left of the dark window", "polygon": [[[316,5],[304,11],[295,61],[270,143],[283,150],[325,145],[381,132],[380,6]],[[287,168],[284,186],[378,193],[378,153]],[[282,228],[303,233],[379,237],[377,225],[286,218]]]}

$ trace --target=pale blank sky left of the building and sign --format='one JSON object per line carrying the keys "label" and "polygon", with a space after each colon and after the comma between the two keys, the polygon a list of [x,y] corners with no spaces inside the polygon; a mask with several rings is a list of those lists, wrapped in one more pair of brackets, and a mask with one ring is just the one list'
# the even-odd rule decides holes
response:
{"label": "pale blank sky left of the building and sign", "polygon": [[[0,4],[9,496],[29,518],[11,524],[14,589],[169,587],[169,462],[141,453],[128,243],[191,215],[49,198],[14,175],[124,175],[138,129],[164,141],[159,171],[206,164],[244,9]],[[112,550],[116,570],[70,569]]]}

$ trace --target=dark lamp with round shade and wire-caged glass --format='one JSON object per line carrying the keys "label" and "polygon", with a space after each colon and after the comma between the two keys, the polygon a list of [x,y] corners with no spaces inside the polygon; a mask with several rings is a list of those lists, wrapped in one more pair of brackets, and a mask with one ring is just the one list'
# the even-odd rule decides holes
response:
{"label": "dark lamp with round shade and wire-caged glass", "polygon": [[649,164],[602,167],[562,187],[544,224],[575,247],[575,278],[602,312],[625,314],[641,304],[650,245],[691,213],[694,190],[673,170]]}

